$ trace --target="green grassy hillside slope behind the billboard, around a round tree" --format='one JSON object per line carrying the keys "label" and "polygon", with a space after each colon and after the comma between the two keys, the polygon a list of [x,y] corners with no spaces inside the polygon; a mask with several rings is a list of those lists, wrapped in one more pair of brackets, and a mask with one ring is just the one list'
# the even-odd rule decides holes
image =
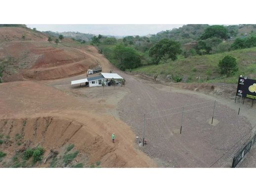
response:
{"label": "green grassy hillside slope behind the billboard, around a round tree", "polygon": [[[221,75],[218,68],[219,61],[226,55],[235,57],[239,68],[238,72],[231,77]],[[166,64],[143,66],[133,69],[132,72],[149,76],[159,74],[160,78],[165,78],[166,75],[183,76],[188,79],[188,82],[196,81],[195,78],[200,76],[201,80],[206,82],[236,83],[238,75],[256,78],[256,47],[220,54],[194,56],[175,62],[170,61]]]}

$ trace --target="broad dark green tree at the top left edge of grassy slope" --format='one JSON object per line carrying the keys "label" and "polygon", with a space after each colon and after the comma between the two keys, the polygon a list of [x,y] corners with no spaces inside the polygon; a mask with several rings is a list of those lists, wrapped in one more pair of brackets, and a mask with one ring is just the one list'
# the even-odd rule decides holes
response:
{"label": "broad dark green tree at the top left edge of grassy slope", "polygon": [[181,54],[180,43],[170,39],[162,39],[155,46],[150,48],[149,55],[153,57],[153,62],[159,64],[162,57],[167,56],[171,60],[176,60],[177,55]]}

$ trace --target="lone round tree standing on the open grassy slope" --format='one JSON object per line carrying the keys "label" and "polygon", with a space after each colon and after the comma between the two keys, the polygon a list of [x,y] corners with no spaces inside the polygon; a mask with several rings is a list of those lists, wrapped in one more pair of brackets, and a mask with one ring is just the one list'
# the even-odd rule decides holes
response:
{"label": "lone round tree standing on the open grassy slope", "polygon": [[229,76],[233,72],[238,71],[236,59],[231,56],[225,56],[220,62],[219,67],[222,74]]}

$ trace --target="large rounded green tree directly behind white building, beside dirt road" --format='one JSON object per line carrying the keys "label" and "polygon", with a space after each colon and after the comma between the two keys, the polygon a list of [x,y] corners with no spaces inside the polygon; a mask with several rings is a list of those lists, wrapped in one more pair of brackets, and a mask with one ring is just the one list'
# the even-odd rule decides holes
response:
{"label": "large rounded green tree directly behind white building, beside dirt road", "polygon": [[126,47],[122,44],[114,48],[114,58],[118,60],[118,67],[121,70],[136,68],[141,65],[139,53],[132,47]]}

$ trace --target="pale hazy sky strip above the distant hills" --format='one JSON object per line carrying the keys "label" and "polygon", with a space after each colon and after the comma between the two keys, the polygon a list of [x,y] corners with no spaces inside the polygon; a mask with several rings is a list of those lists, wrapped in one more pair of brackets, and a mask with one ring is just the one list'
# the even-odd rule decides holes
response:
{"label": "pale hazy sky strip above the distant hills", "polygon": [[160,31],[171,30],[173,28],[179,28],[183,25],[173,24],[173,25],[38,25],[38,24],[27,24],[30,28],[36,28],[38,31],[52,31],[52,32],[82,32],[82,33],[92,33],[92,34],[103,34],[103,35],[147,35],[156,34]]}

